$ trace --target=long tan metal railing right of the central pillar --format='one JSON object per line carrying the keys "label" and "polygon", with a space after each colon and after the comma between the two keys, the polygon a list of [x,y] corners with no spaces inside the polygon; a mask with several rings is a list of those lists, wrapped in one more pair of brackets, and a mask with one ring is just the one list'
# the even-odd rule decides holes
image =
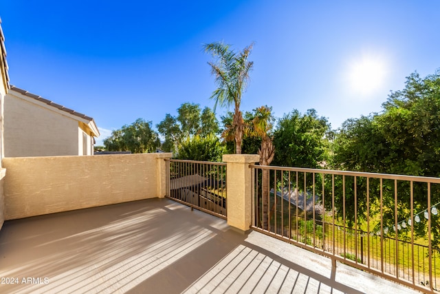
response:
{"label": "long tan metal railing right of the central pillar", "polygon": [[440,288],[440,178],[251,165],[252,228],[421,291]]}

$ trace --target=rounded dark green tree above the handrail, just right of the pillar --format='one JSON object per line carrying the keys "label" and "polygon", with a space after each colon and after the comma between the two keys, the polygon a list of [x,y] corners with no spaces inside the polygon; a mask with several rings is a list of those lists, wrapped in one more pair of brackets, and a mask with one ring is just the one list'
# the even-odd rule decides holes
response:
{"label": "rounded dark green tree above the handrail, just right of the pillar", "polygon": [[329,156],[326,138],[329,130],[327,119],[318,117],[315,109],[307,110],[306,114],[294,109],[278,120],[274,132],[274,165],[320,168]]}

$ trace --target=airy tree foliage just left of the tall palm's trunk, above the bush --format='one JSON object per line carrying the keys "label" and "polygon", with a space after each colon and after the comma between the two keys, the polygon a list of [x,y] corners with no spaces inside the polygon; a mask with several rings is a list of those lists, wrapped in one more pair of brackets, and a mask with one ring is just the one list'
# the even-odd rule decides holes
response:
{"label": "airy tree foliage just left of the tall palm's trunk, above the bush", "polygon": [[219,122],[209,107],[201,111],[199,104],[183,103],[177,109],[177,114],[166,114],[164,120],[156,125],[157,131],[165,138],[162,144],[164,151],[177,151],[185,138],[219,133]]}

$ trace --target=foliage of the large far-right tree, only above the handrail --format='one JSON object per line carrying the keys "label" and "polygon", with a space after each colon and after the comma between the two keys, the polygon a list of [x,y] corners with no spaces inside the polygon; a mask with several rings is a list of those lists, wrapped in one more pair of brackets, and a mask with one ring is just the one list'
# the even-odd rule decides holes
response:
{"label": "foliage of the large far-right tree, only above the handrail", "polygon": [[333,167],[440,176],[440,72],[408,76],[381,114],[347,120],[333,144]]}

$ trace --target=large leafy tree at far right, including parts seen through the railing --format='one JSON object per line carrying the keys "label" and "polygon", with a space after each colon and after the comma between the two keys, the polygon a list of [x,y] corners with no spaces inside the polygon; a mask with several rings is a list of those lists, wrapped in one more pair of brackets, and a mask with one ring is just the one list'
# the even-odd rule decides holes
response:
{"label": "large leafy tree at far right, including parts seen through the railing", "polygon": [[[440,72],[421,78],[413,73],[406,79],[404,90],[392,92],[383,112],[369,117],[347,120],[336,134],[333,144],[334,168],[370,171],[411,176],[440,176]],[[358,203],[366,202],[366,187],[359,184]],[[372,188],[376,187],[376,188]],[[431,185],[431,203],[440,202],[439,185]],[[373,197],[379,197],[379,186],[370,185]],[[383,198],[386,211],[382,213],[384,226],[393,227],[397,204],[398,221],[410,217],[410,189],[408,182],[397,182],[398,198],[394,199],[395,183],[384,181]],[[427,207],[427,185],[414,183],[415,212]],[[376,199],[377,200],[377,199]],[[336,201],[337,205],[342,202]],[[346,202],[347,205],[347,202]],[[338,207],[342,210],[342,207]],[[346,209],[353,220],[353,209]],[[358,216],[366,216],[365,207],[358,206]],[[438,216],[432,215],[434,244],[440,243]],[[434,225],[435,224],[435,225]],[[406,230],[409,228],[407,227]],[[426,225],[417,224],[415,232],[426,236]]]}

